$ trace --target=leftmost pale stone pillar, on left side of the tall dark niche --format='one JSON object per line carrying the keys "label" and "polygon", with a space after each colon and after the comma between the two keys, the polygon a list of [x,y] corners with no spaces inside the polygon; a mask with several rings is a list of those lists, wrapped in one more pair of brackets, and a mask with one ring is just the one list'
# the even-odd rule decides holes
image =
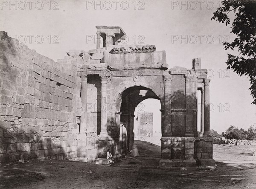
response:
{"label": "leftmost pale stone pillar, on left side of the tall dark niche", "polygon": [[87,113],[87,76],[81,76],[81,101],[82,101],[82,114],[80,119],[80,133],[86,133],[86,113]]}

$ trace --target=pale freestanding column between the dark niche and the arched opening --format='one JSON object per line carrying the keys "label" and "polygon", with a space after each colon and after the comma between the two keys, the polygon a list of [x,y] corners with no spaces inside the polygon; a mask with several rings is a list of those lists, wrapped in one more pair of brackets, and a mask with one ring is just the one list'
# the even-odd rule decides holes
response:
{"label": "pale freestanding column between the dark niche and the arched opening", "polygon": [[101,127],[99,138],[109,138],[107,127],[108,127],[108,115],[105,110],[107,104],[107,82],[108,76],[101,76]]}

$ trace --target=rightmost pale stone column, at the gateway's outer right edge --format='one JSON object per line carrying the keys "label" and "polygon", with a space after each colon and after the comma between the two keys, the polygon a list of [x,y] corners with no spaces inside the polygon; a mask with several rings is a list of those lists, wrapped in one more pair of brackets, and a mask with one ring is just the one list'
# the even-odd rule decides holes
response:
{"label": "rightmost pale stone column, at the gateway's outer right edge", "polygon": [[204,79],[204,134],[210,137],[210,79]]}

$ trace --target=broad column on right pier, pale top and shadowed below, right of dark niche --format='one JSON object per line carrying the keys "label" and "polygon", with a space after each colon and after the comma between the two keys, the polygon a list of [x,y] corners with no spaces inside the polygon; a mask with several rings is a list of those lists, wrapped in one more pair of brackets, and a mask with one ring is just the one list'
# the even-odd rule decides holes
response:
{"label": "broad column on right pier, pale top and shadowed below, right of dark niche", "polygon": [[197,80],[196,76],[186,76],[186,132],[185,137],[194,137],[195,116],[197,110]]}

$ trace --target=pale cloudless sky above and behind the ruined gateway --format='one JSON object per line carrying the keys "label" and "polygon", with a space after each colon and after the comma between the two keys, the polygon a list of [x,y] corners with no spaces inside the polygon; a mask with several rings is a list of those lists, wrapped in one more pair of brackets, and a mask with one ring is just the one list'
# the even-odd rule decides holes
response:
{"label": "pale cloudless sky above and behind the ruined gateway", "polygon": [[[98,25],[121,26],[128,37],[122,44],[154,44],[157,50],[165,50],[169,68],[191,69],[192,58],[201,57],[201,67],[209,70],[211,79],[211,128],[221,133],[230,125],[247,129],[256,122],[249,79],[226,70],[227,53],[238,52],[224,50],[222,42],[232,41],[235,35],[230,33],[230,25],[211,20],[220,1],[1,0],[0,3],[0,30],[54,61],[64,58],[71,49],[96,49]],[[142,103],[145,111],[159,111],[154,100]],[[155,119],[157,122],[158,118]]]}

